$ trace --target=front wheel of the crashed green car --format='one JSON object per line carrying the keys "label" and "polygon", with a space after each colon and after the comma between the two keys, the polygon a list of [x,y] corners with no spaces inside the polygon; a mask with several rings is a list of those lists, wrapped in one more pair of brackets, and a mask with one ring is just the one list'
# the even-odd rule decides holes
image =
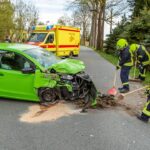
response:
{"label": "front wheel of the crashed green car", "polygon": [[39,90],[40,103],[57,103],[57,96],[54,89],[42,88]]}

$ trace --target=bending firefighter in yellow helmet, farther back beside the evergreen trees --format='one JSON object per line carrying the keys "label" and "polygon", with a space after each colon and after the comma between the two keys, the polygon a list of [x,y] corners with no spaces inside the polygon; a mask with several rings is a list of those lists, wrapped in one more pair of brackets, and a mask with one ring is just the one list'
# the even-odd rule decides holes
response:
{"label": "bending firefighter in yellow helmet, farther back beside the evergreen trees", "polygon": [[137,57],[137,63],[139,68],[138,78],[141,81],[144,81],[146,77],[147,67],[150,64],[150,54],[143,45],[131,44],[130,50],[135,53]]}

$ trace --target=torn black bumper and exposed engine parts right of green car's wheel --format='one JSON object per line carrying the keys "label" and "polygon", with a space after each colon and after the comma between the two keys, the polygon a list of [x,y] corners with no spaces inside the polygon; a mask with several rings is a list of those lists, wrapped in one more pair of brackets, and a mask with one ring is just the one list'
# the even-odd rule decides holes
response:
{"label": "torn black bumper and exposed engine parts right of green car's wheel", "polygon": [[[67,78],[64,78],[64,76],[61,77],[61,82],[64,82],[66,84],[71,85],[72,91],[66,94],[64,98],[69,100],[76,100],[76,99],[85,99],[85,101],[95,99],[97,95],[97,90],[92,82],[89,75],[85,74],[84,72],[73,75],[73,76],[67,76]],[[64,87],[63,87],[64,88]]]}

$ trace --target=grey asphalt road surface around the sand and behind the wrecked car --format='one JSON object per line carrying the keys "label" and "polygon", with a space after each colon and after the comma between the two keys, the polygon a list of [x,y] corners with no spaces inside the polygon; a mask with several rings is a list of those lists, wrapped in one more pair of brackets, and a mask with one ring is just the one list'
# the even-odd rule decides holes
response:
{"label": "grey asphalt road surface around the sand and behind the wrecked car", "polygon": [[[81,48],[87,72],[97,88],[111,86],[113,66],[88,48]],[[0,150],[149,150],[150,124],[122,110],[90,110],[85,115],[63,117],[54,122],[29,124],[20,115],[34,105],[0,101]]]}

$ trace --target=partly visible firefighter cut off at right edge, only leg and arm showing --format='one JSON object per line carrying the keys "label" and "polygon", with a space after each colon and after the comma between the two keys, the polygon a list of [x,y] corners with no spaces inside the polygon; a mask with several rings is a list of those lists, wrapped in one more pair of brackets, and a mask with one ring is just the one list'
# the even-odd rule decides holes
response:
{"label": "partly visible firefighter cut off at right edge, only leg and arm showing", "polygon": [[137,116],[143,122],[148,122],[150,118],[150,87],[146,90],[147,102],[140,116]]}

